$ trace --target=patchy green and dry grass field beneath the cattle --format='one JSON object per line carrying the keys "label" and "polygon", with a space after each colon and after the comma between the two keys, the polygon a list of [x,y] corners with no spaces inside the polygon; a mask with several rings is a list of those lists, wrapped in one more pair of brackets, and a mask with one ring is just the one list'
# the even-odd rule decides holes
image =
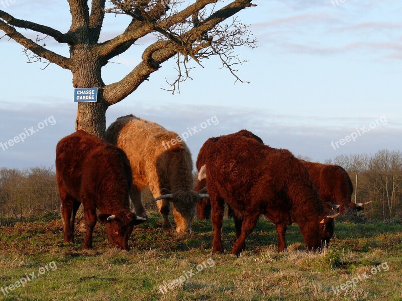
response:
{"label": "patchy green and dry grass field beneath the cattle", "polygon": [[[306,251],[296,225],[288,227],[288,251],[276,251],[273,224],[261,219],[238,258],[228,253],[234,243],[233,220],[225,219],[226,253],[211,255],[210,221],[194,220],[193,232],[178,236],[163,232],[161,218],[136,227],[130,238],[132,250],[113,249],[103,225],[94,232],[92,250],[82,251],[83,233],[75,244],[63,243],[62,221],[47,215],[39,220],[0,227],[0,287],[26,274],[41,277],[18,287],[4,300],[400,300],[402,299],[402,225],[399,223],[337,222],[330,249]],[[212,256],[183,285],[158,292],[160,285],[183,275]],[[388,262],[355,287],[334,293],[332,286]],[[194,269],[195,271],[196,269]]]}

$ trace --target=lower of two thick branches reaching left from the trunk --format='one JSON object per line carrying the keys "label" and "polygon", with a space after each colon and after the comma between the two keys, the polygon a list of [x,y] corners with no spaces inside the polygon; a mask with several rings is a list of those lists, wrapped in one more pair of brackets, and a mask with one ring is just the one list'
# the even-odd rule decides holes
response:
{"label": "lower of two thick branches reaching left from the trunk", "polygon": [[43,57],[47,59],[48,61],[64,68],[64,69],[70,69],[70,59],[63,57],[57,53],[54,53],[53,51],[50,51],[32,40],[24,37],[21,33],[19,33],[14,27],[8,25],[7,23],[3,22],[0,20],[0,30],[4,31],[7,36],[9,36],[11,39],[16,41],[17,43],[21,44],[24,46],[26,49],[29,49],[36,55]]}

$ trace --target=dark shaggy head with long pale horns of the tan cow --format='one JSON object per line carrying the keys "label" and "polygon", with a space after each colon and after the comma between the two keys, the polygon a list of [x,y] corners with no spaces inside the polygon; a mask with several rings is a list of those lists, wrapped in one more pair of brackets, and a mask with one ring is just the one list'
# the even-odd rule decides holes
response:
{"label": "dark shaggy head with long pale horns of the tan cow", "polygon": [[191,223],[195,215],[195,207],[197,202],[204,198],[209,198],[208,194],[203,193],[203,191],[176,191],[172,193],[171,191],[162,188],[162,196],[156,198],[153,201],[158,200],[168,200],[172,206],[172,213],[174,221],[176,222],[176,231],[180,232],[191,232]]}

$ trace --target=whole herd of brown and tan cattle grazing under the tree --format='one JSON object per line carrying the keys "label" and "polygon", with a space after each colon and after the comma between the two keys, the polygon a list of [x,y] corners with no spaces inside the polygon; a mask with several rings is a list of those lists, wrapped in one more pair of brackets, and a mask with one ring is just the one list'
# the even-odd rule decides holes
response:
{"label": "whole herd of brown and tan cattle grazing under the tree", "polygon": [[[75,215],[82,203],[83,249],[92,247],[97,219],[106,223],[113,246],[128,249],[134,226],[148,218],[141,200],[141,191],[147,187],[157,202],[164,230],[172,226],[170,207],[177,232],[191,231],[195,213],[199,219],[211,218],[213,252],[224,251],[221,229],[226,202],[237,236],[233,255],[245,248],[260,215],[276,225],[279,250],[286,249],[286,226],[293,222],[308,250],[320,250],[334,233],[334,218],[367,204],[351,202],[352,182],[341,167],[298,160],[286,149],[264,145],[247,130],[204,143],[196,161],[194,188],[191,154],[178,137],[154,122],[128,115],[110,125],[107,141],[82,130],[61,139],[56,148],[56,178],[64,241],[74,241]],[[170,148],[162,146],[172,139],[175,143]],[[130,211],[130,199],[135,213]]]}

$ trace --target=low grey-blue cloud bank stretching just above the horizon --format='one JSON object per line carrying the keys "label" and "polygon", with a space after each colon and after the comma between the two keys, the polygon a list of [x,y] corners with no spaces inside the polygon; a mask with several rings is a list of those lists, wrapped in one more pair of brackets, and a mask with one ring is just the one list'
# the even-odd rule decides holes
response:
{"label": "low grey-blue cloud bank stretching just above the horizon", "polygon": [[[0,142],[14,139],[20,133],[53,116],[54,125],[45,126],[35,134],[28,136],[25,142],[16,143],[9,149],[0,147],[0,166],[9,168],[27,168],[34,166],[54,166],[57,142],[74,131],[76,105],[60,103],[54,105],[25,105],[15,107],[2,104],[0,118]],[[380,116],[366,118],[333,119],[319,116],[300,117],[272,114],[258,109],[228,108],[224,106],[177,105],[154,102],[112,106],[107,113],[107,126],[117,117],[133,113],[134,115],[157,122],[178,134],[190,131],[194,126],[196,133],[189,135],[187,144],[195,161],[199,148],[209,137],[228,134],[246,128],[259,135],[266,144],[277,148],[287,148],[293,154],[311,157],[315,161],[324,161],[340,154],[375,153],[380,148],[398,149],[402,125],[393,120],[378,126],[356,140],[339,149],[331,146],[331,141],[338,141],[356,130],[356,127],[368,125]],[[202,128],[203,122],[216,116],[219,121]]]}

